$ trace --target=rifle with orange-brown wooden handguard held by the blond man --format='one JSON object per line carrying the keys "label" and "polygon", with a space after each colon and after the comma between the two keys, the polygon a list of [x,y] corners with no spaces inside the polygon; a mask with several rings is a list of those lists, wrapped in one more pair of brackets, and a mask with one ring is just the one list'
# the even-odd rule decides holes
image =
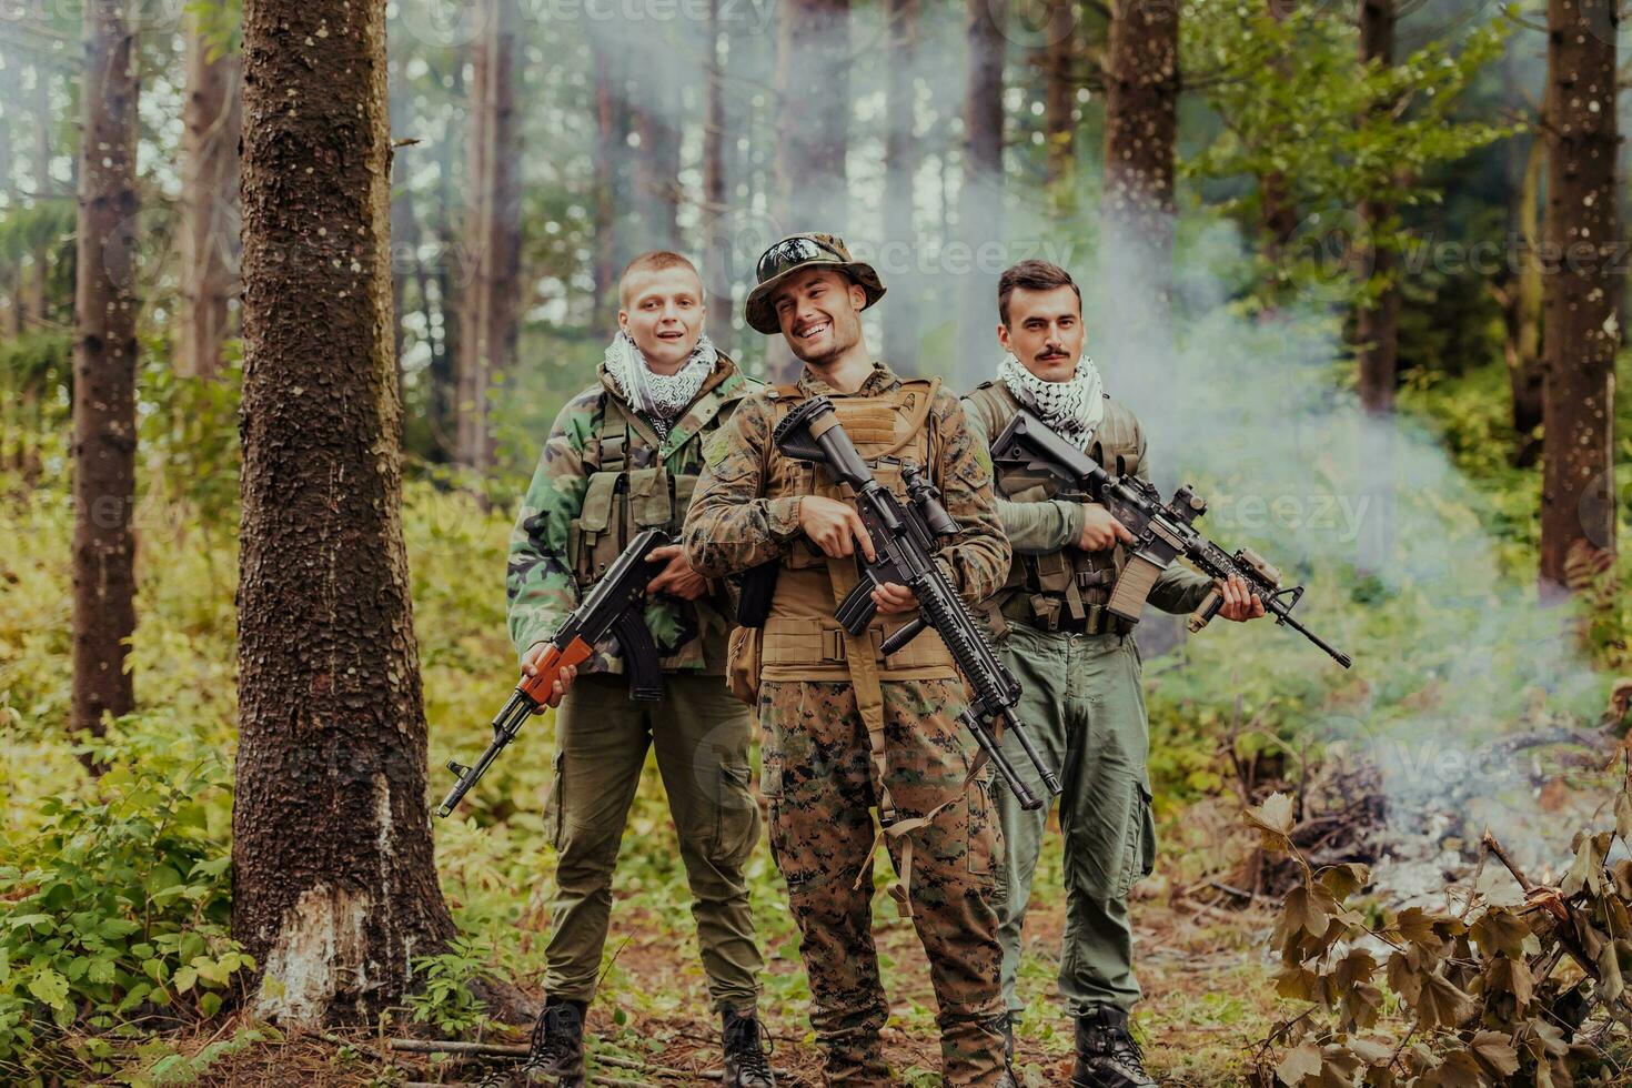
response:
{"label": "rifle with orange-brown wooden handguard held by the blond man", "polygon": [[664,566],[663,563],[648,563],[646,553],[669,543],[672,540],[667,533],[648,529],[612,561],[596,587],[584,595],[573,615],[566,617],[566,623],[550,639],[543,656],[539,657],[537,672],[530,677],[522,675],[521,683],[511,692],[509,701],[493,719],[493,742],[488,744],[488,750],[472,767],[465,767],[459,760],[447,760],[447,770],[454,772],[457,781],[442,798],[442,804],[436,806],[437,816],[450,814],[493,765],[504,745],[516,739],[521,724],[543,710],[561,669],[589,661],[596,643],[607,633],[617,638],[619,649],[623,651],[628,697],[643,701],[663,698],[658,648],[651,641],[651,631],[646,630],[641,607],[646,604],[646,586]]}

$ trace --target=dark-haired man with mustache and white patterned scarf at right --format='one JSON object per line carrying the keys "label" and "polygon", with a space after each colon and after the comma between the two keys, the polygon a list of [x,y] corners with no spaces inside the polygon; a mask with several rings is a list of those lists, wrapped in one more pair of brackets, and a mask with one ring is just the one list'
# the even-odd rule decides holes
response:
{"label": "dark-haired man with mustache and white patterned scarf at right", "polygon": [[[997,287],[997,341],[1007,352],[997,378],[965,396],[973,431],[989,444],[1020,408],[1111,475],[1146,476],[1144,431],[1134,414],[1103,390],[1084,354],[1082,292],[1066,269],[1022,261]],[[1141,692],[1133,625],[1105,607],[1133,535],[1097,502],[1056,498],[1053,480],[997,468],[997,511],[1013,546],[1002,587],[986,602],[1004,662],[1020,680],[1015,708],[1044,762],[1059,768],[1064,793],[1059,825],[1066,837],[1066,933],[1059,993],[1075,1018],[1080,1088],[1139,1088],[1146,1075],[1128,1033],[1139,1000],[1133,974],[1128,892],[1155,863],[1149,724]],[[1164,612],[1193,612],[1214,582],[1182,566],[1155,579],[1149,600]],[[1263,602],[1242,579],[1219,587],[1221,615],[1248,620]],[[1036,770],[1012,737],[1005,752],[1038,796]],[[1009,899],[1000,907],[1005,1034],[1013,1049],[1020,936],[1048,806],[1027,812],[997,785],[1004,827]]]}

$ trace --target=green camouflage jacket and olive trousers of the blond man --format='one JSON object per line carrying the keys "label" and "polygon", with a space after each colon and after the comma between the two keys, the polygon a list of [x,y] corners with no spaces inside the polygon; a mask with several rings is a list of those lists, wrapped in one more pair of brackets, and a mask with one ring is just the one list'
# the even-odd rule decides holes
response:
{"label": "green camouflage jacket and olive trousers of the blond man", "polygon": [[[666,439],[599,385],[561,409],[516,520],[509,548],[509,630],[517,652],[550,638],[628,540],[646,529],[679,535],[702,452],[749,391],[725,356]],[[555,714],[557,755],[545,825],[558,851],[545,990],[594,997],[612,869],[646,745],[669,796],[692,915],[715,1010],[752,1010],[762,967],[743,865],[759,838],[749,788],[752,718],[723,682],[730,604],[713,592],[648,600],[663,657],[664,698],[628,697],[609,638],[579,666]]]}

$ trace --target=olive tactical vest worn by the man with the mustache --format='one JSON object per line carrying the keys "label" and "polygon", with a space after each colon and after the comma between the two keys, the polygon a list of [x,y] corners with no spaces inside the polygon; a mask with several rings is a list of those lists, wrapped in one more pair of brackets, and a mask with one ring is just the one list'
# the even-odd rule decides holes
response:
{"label": "olive tactical vest worn by the man with the mustache", "polygon": [[[996,439],[1022,408],[1002,382],[986,382],[966,400],[979,414],[987,440]],[[1089,455],[1116,476],[1134,471],[1139,465],[1139,421],[1110,396],[1105,398],[1105,418],[1093,432]],[[992,475],[997,494],[1010,502],[1043,502],[1061,494],[1053,476],[1028,475],[1002,465],[992,465]],[[1105,602],[1126,563],[1128,555],[1121,545],[1108,551],[1084,551],[1075,545],[1046,555],[1015,551],[1009,577],[984,604],[987,623],[997,636],[1009,631],[1010,620],[1043,631],[1124,631],[1128,625],[1113,617]]]}

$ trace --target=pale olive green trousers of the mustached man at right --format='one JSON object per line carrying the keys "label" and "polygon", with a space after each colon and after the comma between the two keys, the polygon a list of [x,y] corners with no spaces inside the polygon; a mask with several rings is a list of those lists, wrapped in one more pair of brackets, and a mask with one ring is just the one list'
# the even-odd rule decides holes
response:
{"label": "pale olive green trousers of the mustached man at right", "polygon": [[[1133,928],[1128,891],[1155,863],[1155,824],[1146,757],[1151,729],[1144,716],[1139,649],[1133,636],[1038,631],[1010,621],[1004,664],[1025,693],[1017,713],[1059,775],[1059,827],[1066,838],[1066,935],[1059,954],[1059,995],[1071,1015],[1095,1005],[1133,1008]],[[1048,793],[1013,737],[1004,752],[1040,796]],[[1004,946],[1004,1000],[1015,995],[1022,928],[1031,878],[1048,827],[1048,806],[1020,807],[999,780],[997,814],[1004,838],[1009,899],[999,905]]]}

